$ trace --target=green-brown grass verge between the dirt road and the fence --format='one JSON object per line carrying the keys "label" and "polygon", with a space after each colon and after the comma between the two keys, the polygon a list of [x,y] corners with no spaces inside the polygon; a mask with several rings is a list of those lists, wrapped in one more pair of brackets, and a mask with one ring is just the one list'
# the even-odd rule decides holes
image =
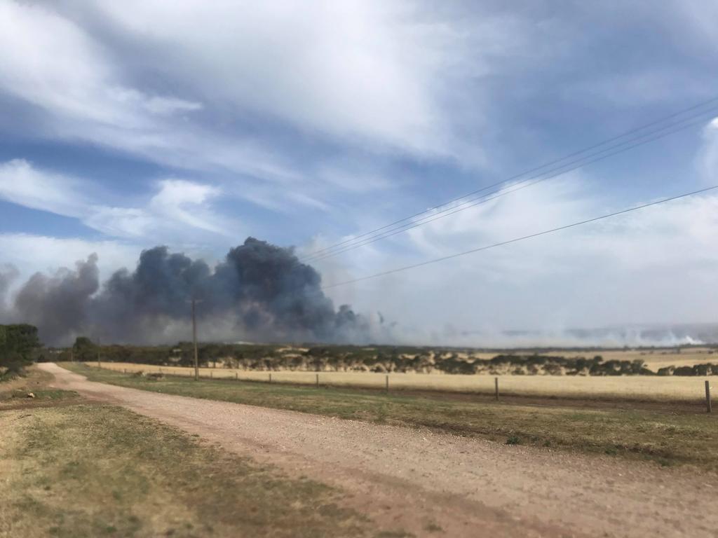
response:
{"label": "green-brown grass verge between the dirt road and the fence", "polygon": [[363,390],[130,374],[65,363],[93,381],[141,390],[477,436],[501,443],[642,458],[718,471],[718,417],[695,411],[516,405]]}

